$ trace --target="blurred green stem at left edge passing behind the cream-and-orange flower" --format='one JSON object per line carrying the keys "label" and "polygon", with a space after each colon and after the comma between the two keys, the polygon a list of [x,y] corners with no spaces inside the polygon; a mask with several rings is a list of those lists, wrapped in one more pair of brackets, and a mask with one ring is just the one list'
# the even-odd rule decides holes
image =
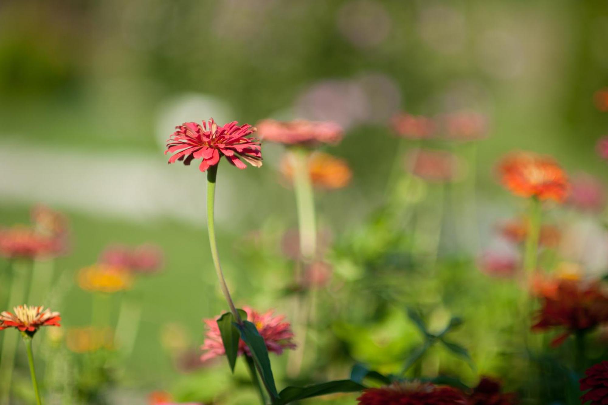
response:
{"label": "blurred green stem at left edge passing behind the cream-and-orange flower", "polygon": [[[13,261],[13,279],[10,288],[8,307],[12,308],[15,305],[22,305],[26,292],[26,279],[28,271],[28,262],[25,260]],[[0,361],[0,404],[8,405],[10,401],[10,387],[13,378],[13,366],[15,365],[15,352],[19,342],[19,337],[16,333],[4,333],[2,341],[2,356]]]}

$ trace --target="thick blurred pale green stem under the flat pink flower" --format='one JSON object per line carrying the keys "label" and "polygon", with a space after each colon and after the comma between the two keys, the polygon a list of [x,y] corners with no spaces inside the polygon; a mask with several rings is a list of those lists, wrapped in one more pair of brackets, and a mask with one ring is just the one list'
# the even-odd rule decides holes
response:
{"label": "thick blurred pale green stem under the flat pink flower", "polygon": [[294,172],[295,207],[298,214],[300,254],[312,260],[316,254],[317,226],[314,212],[313,184],[308,173],[309,152],[303,148],[291,151]]}

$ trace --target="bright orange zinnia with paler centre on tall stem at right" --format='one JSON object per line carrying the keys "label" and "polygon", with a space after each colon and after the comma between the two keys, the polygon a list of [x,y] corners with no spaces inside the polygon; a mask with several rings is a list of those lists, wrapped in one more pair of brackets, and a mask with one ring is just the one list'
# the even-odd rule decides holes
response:
{"label": "bright orange zinnia with paler centre on tall stem at right", "polygon": [[514,195],[564,202],[568,179],[561,167],[548,156],[516,152],[503,158],[498,167],[500,179]]}

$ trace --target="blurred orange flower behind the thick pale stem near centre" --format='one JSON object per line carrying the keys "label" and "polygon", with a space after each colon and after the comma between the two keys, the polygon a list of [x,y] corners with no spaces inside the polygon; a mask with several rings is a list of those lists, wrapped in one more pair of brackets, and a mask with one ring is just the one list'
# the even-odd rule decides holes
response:
{"label": "blurred orange flower behind the thick pale stem near centre", "polygon": [[[286,154],[281,163],[281,172],[286,179],[291,181],[293,171],[291,155]],[[310,154],[308,157],[308,172],[313,185],[320,189],[341,189],[348,185],[353,176],[344,159],[323,152]]]}

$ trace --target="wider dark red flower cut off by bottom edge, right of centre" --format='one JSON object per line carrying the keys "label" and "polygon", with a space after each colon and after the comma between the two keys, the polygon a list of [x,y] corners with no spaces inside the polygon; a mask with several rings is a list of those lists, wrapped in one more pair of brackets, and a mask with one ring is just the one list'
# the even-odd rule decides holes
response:
{"label": "wider dark red flower cut off by bottom edge, right of centre", "polygon": [[364,390],[359,405],[466,405],[465,395],[452,387],[433,384],[393,383]]}

